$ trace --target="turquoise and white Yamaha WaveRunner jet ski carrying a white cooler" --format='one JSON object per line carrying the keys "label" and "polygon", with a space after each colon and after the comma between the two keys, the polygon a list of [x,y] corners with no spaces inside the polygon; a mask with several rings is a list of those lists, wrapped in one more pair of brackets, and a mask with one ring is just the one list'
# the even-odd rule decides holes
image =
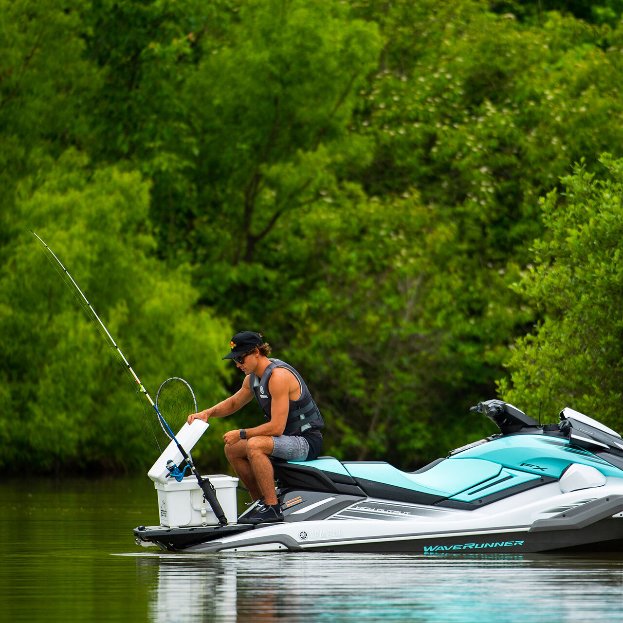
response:
{"label": "turquoise and white Yamaha WaveRunner jet ski carrying a white cooler", "polygon": [[196,480],[172,477],[165,450],[150,472],[161,525],[135,528],[136,543],[193,553],[623,551],[621,435],[569,408],[543,426],[498,400],[471,411],[500,432],[416,472],[333,457],[275,460],[282,523],[238,523],[236,479],[216,475],[207,478],[226,513],[219,525]]}

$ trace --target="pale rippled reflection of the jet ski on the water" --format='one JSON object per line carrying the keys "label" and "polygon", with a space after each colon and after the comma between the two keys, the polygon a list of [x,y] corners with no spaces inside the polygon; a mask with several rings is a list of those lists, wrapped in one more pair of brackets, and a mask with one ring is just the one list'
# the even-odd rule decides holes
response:
{"label": "pale rippled reflection of the jet ski on the water", "polygon": [[157,569],[154,623],[552,623],[621,616],[618,555],[163,554],[136,564]]}

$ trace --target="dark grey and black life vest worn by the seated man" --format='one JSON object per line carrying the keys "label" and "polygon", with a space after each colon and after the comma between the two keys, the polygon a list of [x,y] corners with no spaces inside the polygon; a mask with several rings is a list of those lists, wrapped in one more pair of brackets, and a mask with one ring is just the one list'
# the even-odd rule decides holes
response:
{"label": "dark grey and black life vest worn by the seated man", "polygon": [[286,368],[296,376],[298,383],[301,386],[301,395],[298,400],[290,401],[290,408],[288,409],[288,419],[285,422],[285,429],[283,429],[284,435],[300,435],[303,431],[309,429],[319,429],[325,426],[320,411],[313,401],[312,394],[310,394],[305,381],[298,372],[290,366],[290,364],[281,361],[280,359],[270,359],[270,363],[266,366],[264,374],[260,379],[257,374],[250,374],[249,383],[254,393],[255,399],[259,402],[262,411],[264,411],[264,417],[267,422],[270,422],[270,407],[272,405],[272,397],[269,391],[269,380],[272,371],[275,368]]}

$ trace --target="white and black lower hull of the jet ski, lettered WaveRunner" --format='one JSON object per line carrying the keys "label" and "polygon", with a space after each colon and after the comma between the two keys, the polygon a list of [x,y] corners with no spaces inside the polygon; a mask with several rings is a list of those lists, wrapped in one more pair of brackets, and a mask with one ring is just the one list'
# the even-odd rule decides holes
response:
{"label": "white and black lower hull of the jet ski, lettered WaveRunner", "polygon": [[[614,479],[612,479],[614,480]],[[586,548],[623,551],[623,482],[551,495],[552,483],[475,511],[350,496],[300,497],[282,523],[136,528],[145,543],[186,552],[335,551],[369,553],[527,553]],[[550,490],[547,490],[547,489]],[[321,503],[319,503],[321,502]],[[520,502],[519,508],[516,506]],[[322,508],[325,508],[322,511]],[[297,513],[297,515],[295,515]],[[315,518],[310,519],[313,515]],[[299,518],[300,517],[300,518]],[[357,518],[355,518],[357,517]],[[505,526],[505,527],[502,527]]]}

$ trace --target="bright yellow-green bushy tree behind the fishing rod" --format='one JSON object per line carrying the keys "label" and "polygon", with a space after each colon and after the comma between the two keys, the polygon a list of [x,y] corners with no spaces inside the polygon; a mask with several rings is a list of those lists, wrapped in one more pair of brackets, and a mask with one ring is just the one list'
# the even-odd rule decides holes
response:
{"label": "bright yellow-green bushy tree behind the fishing rod", "polygon": [[[29,228],[70,270],[148,391],[185,376],[199,400],[225,396],[228,371],[217,361],[231,330],[208,310],[194,310],[188,267],[166,270],[153,257],[148,209],[149,184],[140,174],[93,169],[73,150],[21,184],[1,251],[3,468],[130,470],[157,456],[123,368]],[[220,462],[212,437],[212,460]]]}

